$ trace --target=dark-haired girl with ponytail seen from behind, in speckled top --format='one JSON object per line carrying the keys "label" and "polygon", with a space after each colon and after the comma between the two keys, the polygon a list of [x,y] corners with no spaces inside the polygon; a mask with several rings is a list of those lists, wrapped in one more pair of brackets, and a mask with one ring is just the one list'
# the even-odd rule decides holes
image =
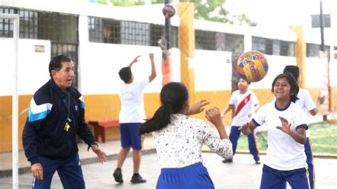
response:
{"label": "dark-haired girl with ponytail seen from behind, in speckled top", "polygon": [[141,124],[139,134],[152,133],[161,166],[157,189],[215,188],[203,166],[203,144],[223,158],[232,158],[228,139],[218,108],[208,109],[206,118],[218,134],[203,120],[188,117],[199,113],[207,102],[190,106],[188,91],[181,82],[170,82],[161,89],[161,107],[154,117]]}

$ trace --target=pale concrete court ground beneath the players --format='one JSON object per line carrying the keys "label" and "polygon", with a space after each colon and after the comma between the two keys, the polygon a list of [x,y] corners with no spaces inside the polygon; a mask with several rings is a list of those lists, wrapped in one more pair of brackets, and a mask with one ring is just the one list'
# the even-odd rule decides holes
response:
{"label": "pale concrete court ground beneath the players", "polygon": [[[213,179],[215,188],[259,188],[262,175],[262,164],[255,165],[249,154],[236,154],[233,163],[224,164],[220,156],[214,153],[204,153],[204,165],[208,168],[210,178]],[[264,156],[261,157],[262,162]],[[160,168],[156,153],[145,154],[141,162],[141,175],[147,179],[146,183],[132,184],[129,182],[132,176],[132,158],[127,158],[124,163],[123,184],[117,184],[112,178],[112,172],[116,167],[116,160],[107,161],[104,164],[91,163],[82,166],[87,188],[155,188],[156,179]],[[337,160],[315,159],[316,188],[337,188]],[[30,173],[19,176],[20,188],[31,188],[32,177]],[[0,178],[0,188],[11,188],[11,177]],[[63,188],[58,175],[53,178],[52,188]]]}

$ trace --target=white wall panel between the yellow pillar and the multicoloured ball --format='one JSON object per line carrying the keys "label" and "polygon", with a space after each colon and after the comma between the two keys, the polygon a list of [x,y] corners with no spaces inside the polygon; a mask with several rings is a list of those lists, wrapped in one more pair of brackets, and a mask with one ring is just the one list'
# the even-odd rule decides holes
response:
{"label": "white wall panel between the yellow pillar and the multicoloured ball", "polygon": [[224,51],[195,50],[192,62],[195,90],[231,90],[231,55]]}

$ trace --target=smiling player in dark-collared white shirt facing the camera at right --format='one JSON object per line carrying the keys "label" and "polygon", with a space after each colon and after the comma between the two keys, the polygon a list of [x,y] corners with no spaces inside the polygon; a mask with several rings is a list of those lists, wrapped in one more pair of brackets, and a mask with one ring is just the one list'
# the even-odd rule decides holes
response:
{"label": "smiling player in dark-collared white shirt facing the camera at right", "polygon": [[243,134],[267,125],[268,148],[260,188],[309,188],[306,171],[306,129],[304,112],[296,102],[299,86],[291,74],[280,74],[272,82],[275,101],[264,104],[250,123],[241,127]]}

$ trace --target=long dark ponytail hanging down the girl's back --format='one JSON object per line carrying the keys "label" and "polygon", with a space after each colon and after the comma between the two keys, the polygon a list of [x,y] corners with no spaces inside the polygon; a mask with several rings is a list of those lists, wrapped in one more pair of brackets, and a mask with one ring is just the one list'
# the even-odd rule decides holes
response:
{"label": "long dark ponytail hanging down the girl's back", "polygon": [[171,103],[163,104],[154,113],[154,117],[141,124],[139,128],[139,135],[159,131],[171,123],[171,115],[173,114],[173,107]]}

